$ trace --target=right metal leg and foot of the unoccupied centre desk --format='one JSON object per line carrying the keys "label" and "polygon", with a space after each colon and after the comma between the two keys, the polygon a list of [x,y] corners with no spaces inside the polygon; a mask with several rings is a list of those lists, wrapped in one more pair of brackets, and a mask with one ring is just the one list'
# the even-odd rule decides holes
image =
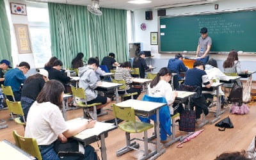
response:
{"label": "right metal leg and foot of the unoccupied centre desk", "polygon": [[156,159],[157,157],[161,156],[165,152],[165,148],[161,149],[161,143],[160,143],[160,132],[159,132],[159,109],[156,110],[156,154],[150,159]]}

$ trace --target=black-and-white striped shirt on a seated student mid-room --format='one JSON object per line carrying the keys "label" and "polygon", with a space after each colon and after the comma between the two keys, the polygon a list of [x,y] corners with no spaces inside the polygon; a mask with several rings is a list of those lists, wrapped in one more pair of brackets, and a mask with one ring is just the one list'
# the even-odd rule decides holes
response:
{"label": "black-and-white striped shirt on a seated student mid-room", "polygon": [[[122,67],[118,67],[116,72],[115,72],[115,79],[116,80],[122,80],[124,79],[125,80],[125,84],[130,84],[132,83],[132,80],[131,80],[131,74],[130,74],[130,71],[126,68],[122,68]],[[130,86],[129,85],[126,85],[126,90],[129,90],[130,89]]]}

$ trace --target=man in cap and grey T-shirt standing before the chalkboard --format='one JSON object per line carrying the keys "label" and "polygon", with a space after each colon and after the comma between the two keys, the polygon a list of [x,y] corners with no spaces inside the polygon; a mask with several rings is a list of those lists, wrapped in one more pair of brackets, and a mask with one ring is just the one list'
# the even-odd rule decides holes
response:
{"label": "man in cap and grey T-shirt standing before the chalkboard", "polygon": [[212,38],[207,35],[207,28],[201,28],[200,33],[201,36],[198,40],[196,57],[200,57],[200,61],[202,61],[205,65],[209,60],[209,52],[212,45]]}

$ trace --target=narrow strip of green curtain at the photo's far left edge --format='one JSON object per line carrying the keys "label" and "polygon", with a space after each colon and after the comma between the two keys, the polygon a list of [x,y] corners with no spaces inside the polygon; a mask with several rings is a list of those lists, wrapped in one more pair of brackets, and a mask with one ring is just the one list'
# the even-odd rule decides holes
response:
{"label": "narrow strip of green curtain at the photo's far left edge", "polygon": [[12,61],[11,32],[4,0],[0,0],[0,60]]}

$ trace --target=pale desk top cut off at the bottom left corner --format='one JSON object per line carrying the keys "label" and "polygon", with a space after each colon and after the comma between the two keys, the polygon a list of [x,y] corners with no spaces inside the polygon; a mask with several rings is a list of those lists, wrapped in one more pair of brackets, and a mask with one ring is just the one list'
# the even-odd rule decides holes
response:
{"label": "pale desk top cut off at the bottom left corner", "polygon": [[31,156],[30,154],[24,152],[19,147],[13,145],[9,141],[3,140],[0,141],[0,159],[4,160],[29,160],[29,159],[36,159],[35,157]]}

